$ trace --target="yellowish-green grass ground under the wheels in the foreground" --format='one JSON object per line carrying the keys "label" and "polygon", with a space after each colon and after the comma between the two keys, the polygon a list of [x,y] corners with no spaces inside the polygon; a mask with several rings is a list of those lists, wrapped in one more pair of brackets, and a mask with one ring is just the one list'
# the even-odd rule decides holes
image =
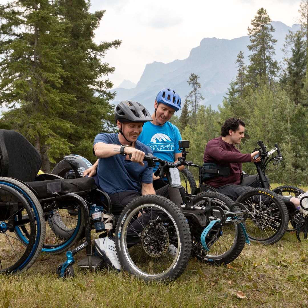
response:
{"label": "yellowish-green grass ground under the wheels in the foreground", "polygon": [[[56,266],[66,260],[65,254],[42,254],[25,273],[0,275],[0,303],[3,307],[308,307],[308,241],[303,233],[301,239],[299,243],[290,232],[275,245],[245,245],[235,261],[221,267],[191,259],[182,276],[168,285],[145,283],[123,271],[92,273],[77,265],[75,278],[60,280]],[[84,250],[75,255],[76,260],[83,257]]]}

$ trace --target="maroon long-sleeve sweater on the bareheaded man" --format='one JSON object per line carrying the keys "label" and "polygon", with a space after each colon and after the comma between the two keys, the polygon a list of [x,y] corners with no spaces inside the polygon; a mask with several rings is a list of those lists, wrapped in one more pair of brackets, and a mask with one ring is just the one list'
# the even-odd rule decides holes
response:
{"label": "maroon long-sleeve sweater on the bareheaded man", "polygon": [[225,184],[240,184],[243,178],[242,163],[250,162],[251,155],[242,154],[234,144],[225,142],[220,136],[206,144],[203,161],[230,168],[230,176],[215,176],[205,182],[205,184],[217,188]]}

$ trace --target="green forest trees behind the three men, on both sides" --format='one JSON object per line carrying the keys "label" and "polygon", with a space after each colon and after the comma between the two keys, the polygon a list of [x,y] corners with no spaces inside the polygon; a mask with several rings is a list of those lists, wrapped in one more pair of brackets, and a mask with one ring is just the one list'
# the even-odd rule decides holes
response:
{"label": "green forest trees behind the three men, on both sides", "polygon": [[[40,152],[44,172],[69,153],[93,162],[95,135],[115,131],[110,103],[115,93],[108,79],[115,67],[103,60],[121,41],[94,43],[105,11],[90,13],[89,8],[88,0],[0,5],[0,104],[8,108],[0,128],[26,136]],[[199,77],[187,76],[192,90],[180,93],[181,114],[171,121],[190,140],[188,160],[202,164],[207,141],[220,136],[225,119],[240,117],[246,125],[241,152],[253,152],[258,140],[269,149],[278,143],[285,169],[267,172],[271,181],[308,184],[308,0],[301,1],[298,12],[300,30],[286,36],[284,62],[277,63],[271,18],[264,8],[257,10],[247,25],[249,64],[239,50],[237,76],[218,110],[202,103]],[[254,168],[243,165],[249,174]]]}

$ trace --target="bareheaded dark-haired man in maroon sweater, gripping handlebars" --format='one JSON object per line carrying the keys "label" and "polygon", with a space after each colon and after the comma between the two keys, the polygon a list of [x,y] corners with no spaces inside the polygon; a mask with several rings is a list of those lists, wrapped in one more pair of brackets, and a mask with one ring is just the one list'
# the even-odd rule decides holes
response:
{"label": "bareheaded dark-haired man in maroon sweater, gripping handlebars", "polygon": [[219,167],[229,167],[230,176],[215,176],[205,182],[216,188],[220,193],[229,196],[234,201],[246,189],[260,187],[259,176],[242,174],[242,163],[258,162],[260,157],[253,159],[259,152],[242,154],[235,144],[240,144],[244,138],[245,123],[240,118],[229,118],[221,127],[221,137],[214,138],[206,144],[203,161],[215,163]]}

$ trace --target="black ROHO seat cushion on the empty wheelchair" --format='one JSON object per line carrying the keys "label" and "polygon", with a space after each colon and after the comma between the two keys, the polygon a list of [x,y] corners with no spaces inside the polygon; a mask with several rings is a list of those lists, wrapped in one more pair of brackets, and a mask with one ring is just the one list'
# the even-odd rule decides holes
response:
{"label": "black ROHO seat cushion on the empty wheelchair", "polygon": [[66,193],[84,196],[97,188],[92,177],[33,181],[26,184],[38,194],[39,199],[64,195]]}

